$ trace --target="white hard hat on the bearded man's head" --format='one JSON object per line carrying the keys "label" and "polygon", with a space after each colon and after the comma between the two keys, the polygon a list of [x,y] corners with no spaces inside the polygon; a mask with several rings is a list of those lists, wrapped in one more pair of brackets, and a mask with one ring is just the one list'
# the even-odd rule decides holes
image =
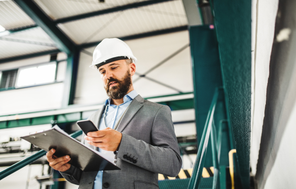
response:
{"label": "white hard hat on the bearded man's head", "polygon": [[106,38],[95,48],[93,62],[90,68],[98,69],[100,66],[118,60],[132,59],[137,62],[129,46],[118,38]]}

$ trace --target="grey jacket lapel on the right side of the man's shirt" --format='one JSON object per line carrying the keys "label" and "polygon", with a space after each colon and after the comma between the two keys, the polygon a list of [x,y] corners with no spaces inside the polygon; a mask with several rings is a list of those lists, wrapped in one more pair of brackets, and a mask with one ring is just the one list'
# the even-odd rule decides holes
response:
{"label": "grey jacket lapel on the right side of the man's shirt", "polygon": [[131,121],[131,119],[134,117],[134,115],[140,110],[140,108],[143,106],[144,98],[142,98],[140,95],[136,96],[133,101],[130,103],[130,105],[127,107],[127,110],[125,114],[123,115],[120,123],[117,126],[117,131],[122,132],[124,127]]}

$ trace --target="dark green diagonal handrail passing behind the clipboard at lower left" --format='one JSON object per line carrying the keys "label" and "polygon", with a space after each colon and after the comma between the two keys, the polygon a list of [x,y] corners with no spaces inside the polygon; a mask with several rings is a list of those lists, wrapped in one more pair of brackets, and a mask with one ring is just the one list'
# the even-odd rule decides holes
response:
{"label": "dark green diagonal handrail passing behind the clipboard at lower left", "polygon": [[[82,134],[82,130],[77,130],[76,132],[70,134],[70,136],[73,138],[76,138],[76,137],[80,136],[81,134]],[[33,163],[37,159],[42,158],[45,154],[46,154],[45,150],[40,150],[36,154],[34,154],[28,158],[25,158],[15,164],[11,165],[10,167],[4,169],[3,171],[0,172],[0,180],[11,175],[12,173],[18,171],[19,169],[25,167],[26,165]]]}

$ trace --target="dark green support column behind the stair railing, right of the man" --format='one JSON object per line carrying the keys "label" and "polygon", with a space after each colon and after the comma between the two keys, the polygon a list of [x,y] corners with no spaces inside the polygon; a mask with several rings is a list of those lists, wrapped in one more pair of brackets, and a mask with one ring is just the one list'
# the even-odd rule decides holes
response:
{"label": "dark green support column behind the stair railing, right of the man", "polygon": [[[205,26],[189,28],[191,63],[193,72],[194,107],[197,144],[200,143],[214,91],[222,86],[218,42],[215,31]],[[217,104],[215,123],[226,118],[223,100]],[[210,141],[209,141],[209,145]],[[212,152],[207,151],[205,167],[212,166]]]}

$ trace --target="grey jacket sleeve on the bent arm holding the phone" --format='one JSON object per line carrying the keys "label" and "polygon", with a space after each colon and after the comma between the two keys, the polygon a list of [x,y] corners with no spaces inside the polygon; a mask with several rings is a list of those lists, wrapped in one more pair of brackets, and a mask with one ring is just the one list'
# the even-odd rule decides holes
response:
{"label": "grey jacket sleeve on the bent arm holding the phone", "polygon": [[[134,160],[128,160],[127,156]],[[151,129],[151,145],[122,133],[117,158],[155,173],[176,177],[181,170],[182,158],[170,108],[163,106],[156,113]]]}

